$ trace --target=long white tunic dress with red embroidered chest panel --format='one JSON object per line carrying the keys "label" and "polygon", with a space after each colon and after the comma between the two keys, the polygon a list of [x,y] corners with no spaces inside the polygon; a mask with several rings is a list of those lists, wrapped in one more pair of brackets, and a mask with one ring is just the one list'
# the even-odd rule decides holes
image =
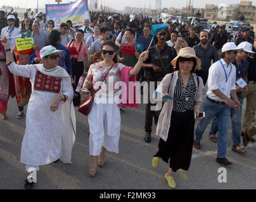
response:
{"label": "long white tunic dress with red embroidered chest panel", "polygon": [[[65,69],[54,68],[61,75],[54,77],[41,73],[36,66],[43,67],[43,64],[18,66],[13,62],[8,66],[11,73],[30,78],[32,83],[20,157],[20,162],[27,165],[45,165],[60,158],[63,135],[61,107],[56,112],[51,112],[50,106],[56,95],[67,95],[68,100],[73,96],[70,78]],[[51,70],[46,69],[46,72]]]}

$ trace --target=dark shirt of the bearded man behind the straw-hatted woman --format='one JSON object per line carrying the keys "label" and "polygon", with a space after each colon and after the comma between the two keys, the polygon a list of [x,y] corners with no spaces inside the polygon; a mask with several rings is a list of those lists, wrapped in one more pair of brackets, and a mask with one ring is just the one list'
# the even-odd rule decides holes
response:
{"label": "dark shirt of the bearded man behind the straw-hatted woman", "polygon": [[211,44],[208,44],[207,49],[203,49],[201,44],[197,44],[193,47],[196,51],[196,56],[199,57],[202,61],[201,71],[208,71],[211,66],[211,60],[214,62],[219,61],[219,54],[215,47]]}

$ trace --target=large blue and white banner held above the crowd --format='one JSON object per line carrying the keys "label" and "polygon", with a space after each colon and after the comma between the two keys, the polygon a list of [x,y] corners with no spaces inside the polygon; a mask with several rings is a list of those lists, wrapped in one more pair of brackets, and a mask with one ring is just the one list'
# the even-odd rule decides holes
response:
{"label": "large blue and white banner held above the crowd", "polygon": [[46,21],[53,20],[54,28],[60,28],[60,23],[67,20],[71,20],[73,26],[83,25],[86,19],[91,22],[87,0],[68,4],[46,4]]}

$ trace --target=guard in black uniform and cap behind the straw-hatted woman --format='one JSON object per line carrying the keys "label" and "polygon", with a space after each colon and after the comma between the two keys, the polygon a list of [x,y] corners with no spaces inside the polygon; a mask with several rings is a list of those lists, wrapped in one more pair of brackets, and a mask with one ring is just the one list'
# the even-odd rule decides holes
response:
{"label": "guard in black uniform and cap behind the straw-hatted woman", "polygon": [[[161,31],[157,34],[158,44],[150,47],[148,59],[143,63],[143,68],[146,68],[148,72],[148,84],[150,81],[155,82],[155,89],[157,89],[157,82],[162,81],[166,74],[174,71],[170,62],[177,56],[177,52],[173,47],[169,47],[166,44],[167,32]],[[150,85],[148,85],[150,86]],[[155,105],[151,103],[150,88],[148,88],[148,104],[146,104],[145,114],[145,131],[146,136],[144,140],[147,143],[151,141],[151,127],[154,117],[154,122],[157,125],[158,122],[158,111],[151,110],[151,106]]]}

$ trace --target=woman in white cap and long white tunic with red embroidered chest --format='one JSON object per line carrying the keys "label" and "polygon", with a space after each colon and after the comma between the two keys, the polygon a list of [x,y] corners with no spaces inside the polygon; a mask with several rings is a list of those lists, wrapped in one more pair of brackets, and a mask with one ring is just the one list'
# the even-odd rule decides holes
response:
{"label": "woman in white cap and long white tunic with red embroidered chest", "polygon": [[[30,78],[32,83],[20,162],[25,163],[27,171],[32,167],[39,170],[39,165],[52,163],[61,157],[64,126],[59,105],[73,97],[70,76],[58,66],[60,50],[53,46],[41,49],[43,64],[17,65],[8,51],[8,40],[1,41],[7,49],[6,62],[11,73]],[[31,188],[32,183],[26,181],[25,188]]]}

